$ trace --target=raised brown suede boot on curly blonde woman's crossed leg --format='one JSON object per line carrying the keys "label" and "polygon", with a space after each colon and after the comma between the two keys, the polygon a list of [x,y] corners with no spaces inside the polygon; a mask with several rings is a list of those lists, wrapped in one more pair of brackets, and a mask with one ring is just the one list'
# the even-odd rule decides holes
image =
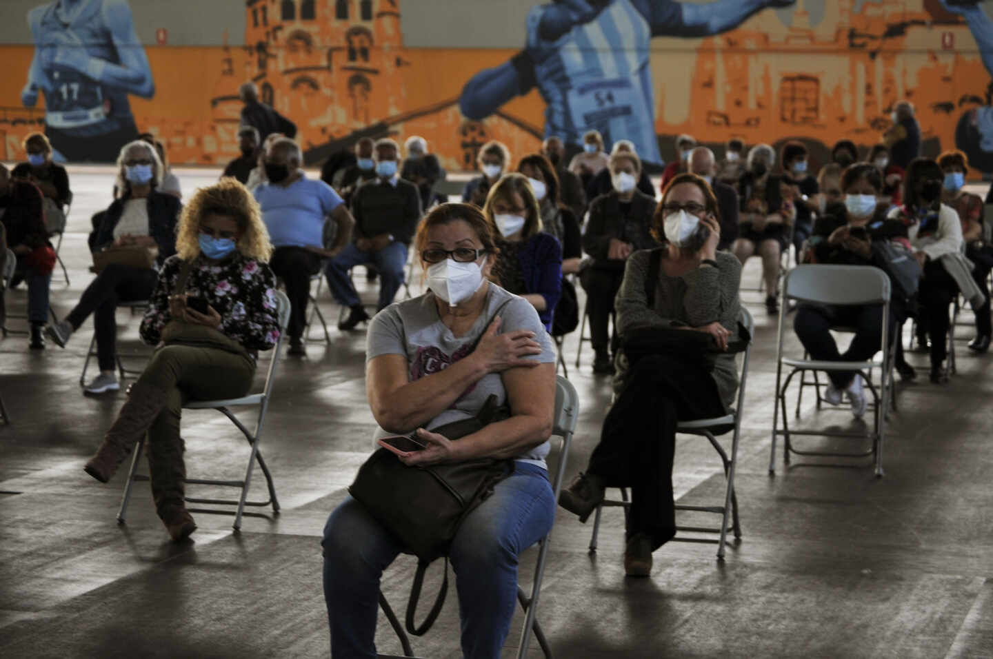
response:
{"label": "raised brown suede boot on curly blonde woman's crossed leg", "polygon": [[128,387],[128,399],[103,438],[96,454],[83,470],[100,482],[107,482],[121,462],[145,434],[166,404],[166,393],[140,380]]}

